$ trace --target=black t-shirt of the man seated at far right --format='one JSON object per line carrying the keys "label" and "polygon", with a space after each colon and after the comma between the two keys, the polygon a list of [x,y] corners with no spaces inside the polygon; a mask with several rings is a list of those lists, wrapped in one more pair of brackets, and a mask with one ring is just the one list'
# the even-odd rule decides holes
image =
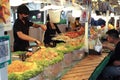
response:
{"label": "black t-shirt of the man seated at far right", "polygon": [[110,58],[109,65],[112,65],[114,61],[119,60],[120,61],[120,42],[117,43],[114,53]]}

